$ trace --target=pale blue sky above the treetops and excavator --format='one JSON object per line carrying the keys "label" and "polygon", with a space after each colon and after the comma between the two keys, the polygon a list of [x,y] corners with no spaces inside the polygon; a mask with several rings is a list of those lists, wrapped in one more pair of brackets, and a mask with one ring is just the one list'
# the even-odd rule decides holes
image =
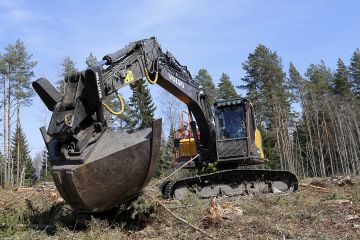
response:
{"label": "pale blue sky above the treetops and excavator", "polygon": [[[82,69],[90,52],[101,58],[156,36],[193,76],[204,67],[215,82],[226,72],[239,85],[241,63],[258,44],[277,51],[285,69],[292,61],[301,73],[321,59],[333,69],[339,57],[348,63],[360,47],[359,13],[360,1],[0,0],[0,51],[21,39],[38,61],[36,77],[55,82],[65,56]],[[153,98],[158,102],[159,94]],[[44,113],[37,96],[22,113],[32,155],[43,147]]]}

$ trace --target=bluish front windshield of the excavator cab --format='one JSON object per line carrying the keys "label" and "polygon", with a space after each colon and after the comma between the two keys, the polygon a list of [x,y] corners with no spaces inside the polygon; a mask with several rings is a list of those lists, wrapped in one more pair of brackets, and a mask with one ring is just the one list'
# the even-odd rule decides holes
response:
{"label": "bluish front windshield of the excavator cab", "polygon": [[244,106],[229,106],[218,109],[219,139],[245,138],[246,119]]}

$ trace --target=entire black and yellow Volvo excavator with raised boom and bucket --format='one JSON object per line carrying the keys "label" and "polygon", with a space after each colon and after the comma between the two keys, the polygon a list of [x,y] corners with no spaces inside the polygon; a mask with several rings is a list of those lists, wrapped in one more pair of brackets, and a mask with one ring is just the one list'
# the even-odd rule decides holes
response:
{"label": "entire black and yellow Volvo excavator with raised boom and bucket", "polygon": [[[117,91],[140,80],[158,84],[187,105],[188,134],[174,139],[177,162],[188,161],[188,168],[195,170],[216,165],[213,172],[164,182],[164,198],[181,199],[187,191],[209,198],[298,189],[297,177],[289,171],[246,169],[267,161],[251,102],[218,100],[210,106],[207,93],[187,67],[169,51],[164,53],[151,37],[66,76],[63,94],[46,78],[32,83],[52,112],[48,128],[40,128],[52,176],[60,195],[74,209],[113,209],[136,198],[152,178],[161,145],[161,119],[150,128],[127,133],[111,130],[105,117],[105,111],[121,114],[124,101]],[[106,103],[111,94],[118,96],[120,111]]]}

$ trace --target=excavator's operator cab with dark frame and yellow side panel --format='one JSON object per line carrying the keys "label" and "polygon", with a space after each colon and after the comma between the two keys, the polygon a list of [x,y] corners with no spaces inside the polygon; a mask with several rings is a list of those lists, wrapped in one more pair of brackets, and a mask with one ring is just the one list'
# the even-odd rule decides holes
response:
{"label": "excavator's operator cab with dark frame and yellow side panel", "polygon": [[255,165],[265,162],[261,134],[247,99],[215,102],[216,148],[219,164]]}

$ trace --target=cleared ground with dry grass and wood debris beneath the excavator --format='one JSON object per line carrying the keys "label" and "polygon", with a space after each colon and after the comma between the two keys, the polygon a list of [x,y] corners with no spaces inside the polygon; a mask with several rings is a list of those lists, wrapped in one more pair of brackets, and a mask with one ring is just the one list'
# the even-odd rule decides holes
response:
{"label": "cleared ground with dry grass and wood debris beneath the excavator", "polygon": [[206,238],[360,239],[360,179],[306,179],[296,193],[212,200],[164,201],[154,190],[95,215],[73,211],[51,184],[0,190],[0,239]]}

